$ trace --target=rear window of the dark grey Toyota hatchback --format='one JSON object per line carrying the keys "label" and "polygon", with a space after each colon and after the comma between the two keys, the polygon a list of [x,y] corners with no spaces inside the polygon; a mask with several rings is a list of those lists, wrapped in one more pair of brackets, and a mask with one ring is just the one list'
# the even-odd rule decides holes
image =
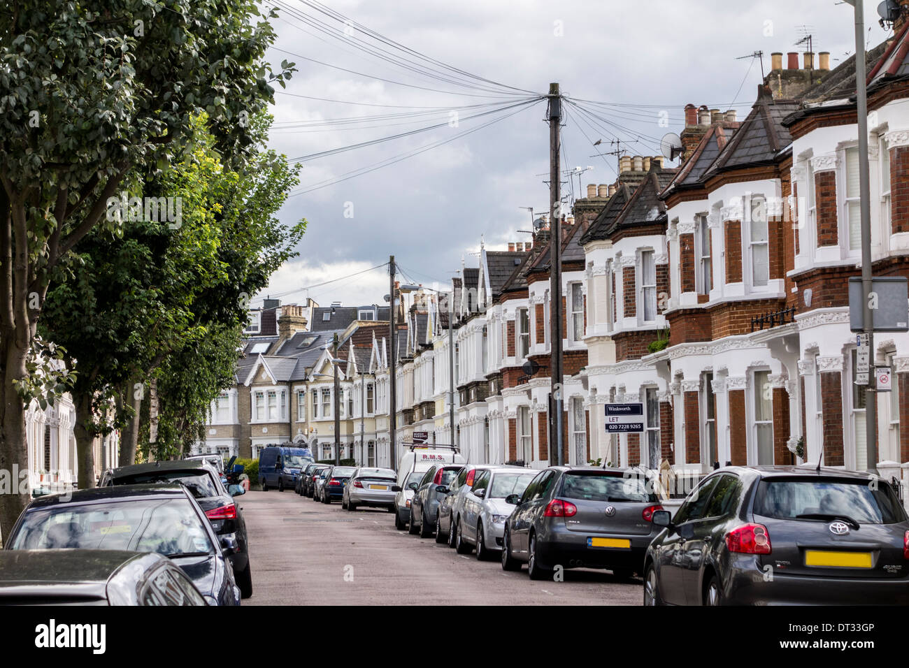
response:
{"label": "rear window of the dark grey Toyota hatchback", "polygon": [[872,489],[864,480],[823,478],[762,480],[754,497],[754,514],[793,520],[841,516],[860,524],[892,524],[905,517],[888,484]]}

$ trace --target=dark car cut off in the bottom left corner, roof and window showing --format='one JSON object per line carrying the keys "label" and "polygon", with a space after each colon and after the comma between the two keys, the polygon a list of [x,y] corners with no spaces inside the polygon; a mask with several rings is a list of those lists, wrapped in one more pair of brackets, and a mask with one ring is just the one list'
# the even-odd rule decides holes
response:
{"label": "dark car cut off in the bottom left corner, roof and window showing", "polygon": [[0,551],[0,605],[206,605],[170,559],[125,550]]}

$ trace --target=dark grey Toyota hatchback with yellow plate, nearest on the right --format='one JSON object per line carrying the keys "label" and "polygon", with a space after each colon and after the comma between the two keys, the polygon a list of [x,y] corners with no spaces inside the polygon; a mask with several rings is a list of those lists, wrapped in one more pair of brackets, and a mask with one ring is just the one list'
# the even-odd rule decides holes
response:
{"label": "dark grey Toyota hatchback with yellow plate, nearest on the right", "polygon": [[909,603],[909,520],[872,474],[731,466],[654,523],[648,605]]}

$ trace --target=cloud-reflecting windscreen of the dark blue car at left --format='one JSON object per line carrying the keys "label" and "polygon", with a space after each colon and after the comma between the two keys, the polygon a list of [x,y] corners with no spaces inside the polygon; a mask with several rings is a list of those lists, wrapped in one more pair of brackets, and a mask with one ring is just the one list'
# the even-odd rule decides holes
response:
{"label": "cloud-reflecting windscreen of the dark blue car at left", "polygon": [[184,498],[85,503],[25,513],[14,550],[134,550],[166,556],[212,553],[199,515]]}

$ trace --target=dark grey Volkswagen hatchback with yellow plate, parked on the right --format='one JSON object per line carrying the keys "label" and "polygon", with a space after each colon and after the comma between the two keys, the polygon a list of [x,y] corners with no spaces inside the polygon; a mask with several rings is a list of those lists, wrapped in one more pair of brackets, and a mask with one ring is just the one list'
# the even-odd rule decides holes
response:
{"label": "dark grey Volkswagen hatchback with yellow plate, parked on the right", "polygon": [[644,568],[647,545],[660,532],[662,510],[654,482],[624,469],[550,466],[537,474],[505,523],[502,568],[527,563],[532,580],[549,578],[554,566],[607,568],[630,577]]}

